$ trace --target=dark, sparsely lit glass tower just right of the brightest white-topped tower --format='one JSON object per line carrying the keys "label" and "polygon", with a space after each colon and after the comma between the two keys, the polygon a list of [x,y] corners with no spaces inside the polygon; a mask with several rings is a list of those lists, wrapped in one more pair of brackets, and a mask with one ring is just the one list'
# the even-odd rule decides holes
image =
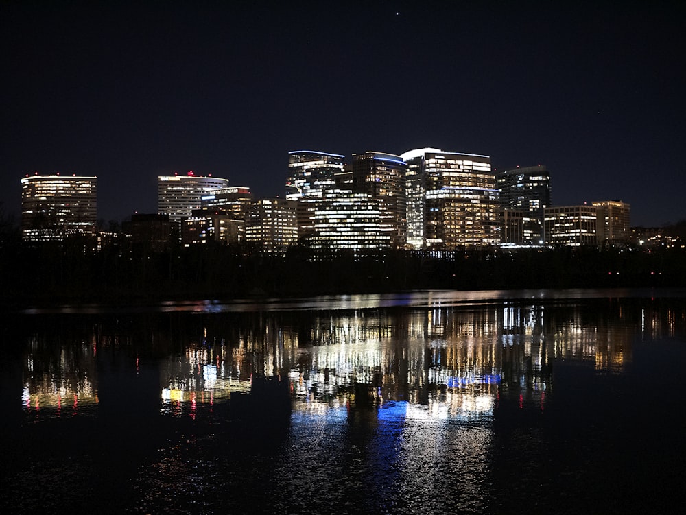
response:
{"label": "dark, sparsely lit glass tower just right of the brightest white-topped tower", "polygon": [[506,215],[507,211],[521,212],[521,230],[512,231],[504,228],[501,241],[520,245],[543,244],[543,212],[550,206],[548,169],[538,165],[499,171],[495,174],[495,182],[499,190],[503,221],[514,219],[514,213]]}

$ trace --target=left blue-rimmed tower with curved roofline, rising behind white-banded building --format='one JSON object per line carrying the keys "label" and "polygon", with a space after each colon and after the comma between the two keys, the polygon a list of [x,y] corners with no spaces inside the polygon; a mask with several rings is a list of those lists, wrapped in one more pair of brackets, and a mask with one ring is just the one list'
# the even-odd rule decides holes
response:
{"label": "left blue-rimmed tower with curved roofline, rising behind white-banded building", "polygon": [[336,176],[343,170],[343,158],[339,154],[314,150],[289,152],[286,198],[320,197],[323,191],[333,189]]}

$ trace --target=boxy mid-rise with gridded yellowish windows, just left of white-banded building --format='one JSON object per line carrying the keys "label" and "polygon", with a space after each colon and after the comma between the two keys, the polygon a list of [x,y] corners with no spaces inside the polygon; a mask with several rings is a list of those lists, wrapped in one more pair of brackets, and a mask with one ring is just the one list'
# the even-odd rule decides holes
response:
{"label": "boxy mid-rise with gridded yellowish windows, just left of white-banded building", "polygon": [[246,217],[246,243],[265,252],[285,252],[298,241],[295,200],[255,200]]}

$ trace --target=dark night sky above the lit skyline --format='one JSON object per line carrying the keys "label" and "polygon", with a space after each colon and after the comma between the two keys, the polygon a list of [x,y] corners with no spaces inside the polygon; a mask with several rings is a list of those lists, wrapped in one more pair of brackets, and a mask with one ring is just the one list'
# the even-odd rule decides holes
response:
{"label": "dark night sky above the lit skyline", "polygon": [[36,171],[121,221],[174,171],[283,196],[290,150],[431,146],[686,219],[686,2],[233,3],[0,0],[5,213]]}

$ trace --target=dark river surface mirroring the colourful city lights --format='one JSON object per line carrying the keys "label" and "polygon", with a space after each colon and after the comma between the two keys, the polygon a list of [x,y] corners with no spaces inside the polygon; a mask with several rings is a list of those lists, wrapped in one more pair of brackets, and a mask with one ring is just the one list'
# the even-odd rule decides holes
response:
{"label": "dark river surface mirroring the colourful city lights", "polygon": [[[16,362],[21,386],[3,383],[1,398],[8,415],[14,403],[22,411],[5,431],[40,445],[31,468],[10,452],[3,482],[17,490],[0,494],[0,506],[49,511],[12,492],[60,483],[67,459],[84,474],[117,472],[111,484],[91,479],[73,501],[97,504],[123,490],[116,512],[592,508],[570,489],[599,502],[586,478],[604,477],[606,461],[646,466],[624,453],[643,437],[617,425],[635,416],[631,402],[661,407],[635,383],[636,370],[659,376],[646,363],[660,357],[636,362],[637,346],[645,358],[646,342],[683,343],[686,326],[674,292],[601,293],[325,298],[316,311],[314,300],[272,300],[263,311],[207,301],[149,313],[24,313],[34,329]],[[683,359],[683,345],[670,349]],[[54,438],[64,442],[57,457],[44,444]],[[636,480],[626,470],[619,479]],[[569,509],[558,509],[556,495]]]}

